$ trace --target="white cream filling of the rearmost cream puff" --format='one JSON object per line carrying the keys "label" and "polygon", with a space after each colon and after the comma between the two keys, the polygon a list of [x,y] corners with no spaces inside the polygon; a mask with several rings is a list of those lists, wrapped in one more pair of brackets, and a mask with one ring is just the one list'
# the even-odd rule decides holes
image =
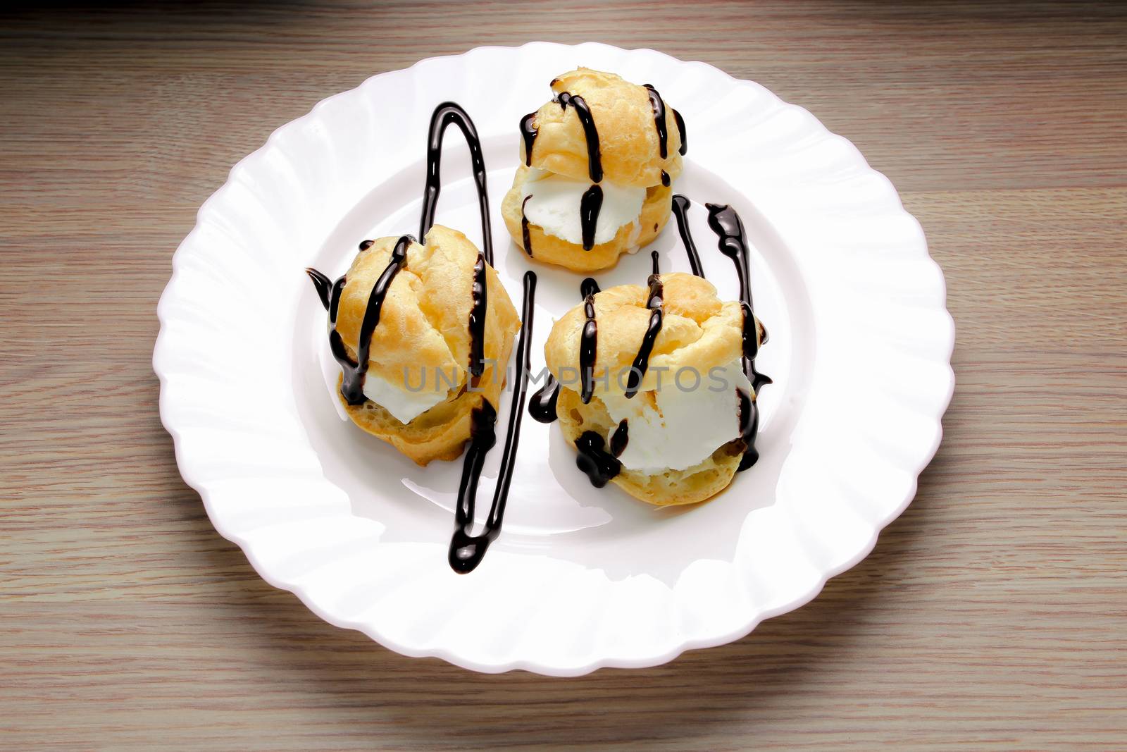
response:
{"label": "white cream filling of the rearmost cream puff", "polygon": [[[583,245],[583,228],[579,223],[579,204],[583,194],[592,186],[589,180],[575,180],[547,170],[530,169],[529,177],[521,187],[521,201],[526,197],[524,216],[540,227],[544,233],[577,246]],[[595,220],[595,245],[610,242],[619,228],[641,216],[646,202],[646,188],[615,185],[603,180],[603,205]]]}

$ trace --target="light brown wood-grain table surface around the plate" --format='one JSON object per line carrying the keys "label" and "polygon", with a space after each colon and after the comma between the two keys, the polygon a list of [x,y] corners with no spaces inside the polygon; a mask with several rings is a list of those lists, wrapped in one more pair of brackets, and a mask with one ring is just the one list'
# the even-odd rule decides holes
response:
{"label": "light brown wood-grain table surface around the plate", "polygon": [[[1127,747],[1125,6],[106,5],[0,19],[0,747]],[[943,445],[868,559],[735,644],[571,680],[405,658],[269,587],[150,368],[172,250],[273,129],[534,38],[809,108],[900,189],[958,326]]]}

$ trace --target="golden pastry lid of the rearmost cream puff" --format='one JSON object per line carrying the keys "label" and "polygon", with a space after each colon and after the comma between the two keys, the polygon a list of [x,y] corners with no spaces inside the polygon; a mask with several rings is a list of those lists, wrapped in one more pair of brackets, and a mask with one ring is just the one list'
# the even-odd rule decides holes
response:
{"label": "golden pastry lid of the rearmost cream puff", "polygon": [[[658,149],[654,109],[646,87],[631,83],[614,73],[579,68],[552,80],[552,91],[582,96],[591,108],[598,130],[604,179],[620,185],[649,187],[662,183],[662,170],[671,178],[681,175],[681,135],[673,107],[665,104],[668,132],[667,157]],[[536,110],[533,121],[536,139],[532,145],[532,167],[559,175],[589,179],[587,139],[575,107],[549,101]],[[524,147],[521,147],[524,158]]]}

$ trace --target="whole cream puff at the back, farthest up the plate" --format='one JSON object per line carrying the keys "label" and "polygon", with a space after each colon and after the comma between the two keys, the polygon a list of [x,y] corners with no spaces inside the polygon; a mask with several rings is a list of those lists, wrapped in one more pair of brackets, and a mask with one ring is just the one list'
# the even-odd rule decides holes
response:
{"label": "whole cream puff at the back, farthest up the plate", "polygon": [[522,165],[502,203],[529,256],[576,272],[614,266],[669,219],[685,130],[657,89],[579,68],[521,121]]}

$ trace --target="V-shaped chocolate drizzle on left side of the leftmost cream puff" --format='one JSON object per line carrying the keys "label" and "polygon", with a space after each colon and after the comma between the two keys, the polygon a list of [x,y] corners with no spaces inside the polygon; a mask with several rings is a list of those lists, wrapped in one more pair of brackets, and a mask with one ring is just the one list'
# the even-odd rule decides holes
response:
{"label": "V-shaped chocolate drizzle on left side of the leftmost cream puff", "polygon": [[367,399],[364,396],[364,377],[367,374],[369,355],[372,347],[372,334],[380,324],[380,312],[383,310],[383,299],[388,295],[392,280],[403,267],[407,260],[407,247],[415,241],[409,235],[405,235],[397,242],[391,251],[391,260],[380,274],[380,277],[372,286],[372,292],[367,297],[367,307],[364,309],[364,318],[360,325],[360,339],[356,343],[356,360],[353,360],[345,348],[345,343],[337,331],[337,311],[340,308],[340,293],[345,289],[345,277],[340,277],[332,283],[329,291],[329,278],[314,268],[307,268],[305,274],[313,281],[317,295],[321,299],[321,304],[329,311],[329,347],[332,356],[340,364],[344,379],[340,382],[340,395],[349,405],[363,405]]}

